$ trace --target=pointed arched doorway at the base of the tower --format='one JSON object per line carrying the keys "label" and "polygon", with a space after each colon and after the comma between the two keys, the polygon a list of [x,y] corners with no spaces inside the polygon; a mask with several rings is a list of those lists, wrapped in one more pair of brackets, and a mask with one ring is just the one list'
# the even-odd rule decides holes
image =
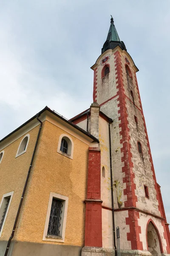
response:
{"label": "pointed arched doorway at the base of the tower", "polygon": [[163,252],[158,229],[151,220],[147,223],[147,249],[153,256],[160,256]]}

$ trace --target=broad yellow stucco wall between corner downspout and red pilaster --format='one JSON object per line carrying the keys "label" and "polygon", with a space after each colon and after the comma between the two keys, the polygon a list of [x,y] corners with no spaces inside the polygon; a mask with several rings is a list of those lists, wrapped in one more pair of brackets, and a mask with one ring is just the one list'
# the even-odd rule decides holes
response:
{"label": "broad yellow stucco wall between corner downspout and red pilaster", "polygon": [[[48,121],[43,122],[40,144],[28,184],[28,195],[14,240],[78,246],[84,244],[83,201],[86,196],[89,146],[68,134],[74,141],[72,160],[57,153],[61,134],[67,132]],[[69,198],[64,243],[42,241],[50,192]]]}

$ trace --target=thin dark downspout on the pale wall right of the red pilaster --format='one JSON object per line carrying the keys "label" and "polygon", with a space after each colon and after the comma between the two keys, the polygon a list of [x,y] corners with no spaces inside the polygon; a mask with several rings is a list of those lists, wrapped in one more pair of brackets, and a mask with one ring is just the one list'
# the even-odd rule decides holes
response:
{"label": "thin dark downspout on the pale wall right of the red pilaster", "polygon": [[117,256],[115,221],[114,221],[114,198],[113,198],[113,175],[112,175],[112,153],[111,153],[111,123],[109,121],[109,151],[110,151],[110,166],[111,166],[111,199],[112,199],[112,219],[113,219],[113,241],[115,248],[115,256]]}

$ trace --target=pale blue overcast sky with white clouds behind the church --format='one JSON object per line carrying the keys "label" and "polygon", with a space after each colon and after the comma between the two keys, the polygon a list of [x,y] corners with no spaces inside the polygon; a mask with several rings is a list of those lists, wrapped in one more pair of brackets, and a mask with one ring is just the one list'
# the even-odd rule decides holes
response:
{"label": "pale blue overcast sky with white clouds behind the church", "polygon": [[89,108],[90,67],[113,15],[137,73],[157,182],[170,222],[170,0],[0,0],[0,138],[46,105]]}

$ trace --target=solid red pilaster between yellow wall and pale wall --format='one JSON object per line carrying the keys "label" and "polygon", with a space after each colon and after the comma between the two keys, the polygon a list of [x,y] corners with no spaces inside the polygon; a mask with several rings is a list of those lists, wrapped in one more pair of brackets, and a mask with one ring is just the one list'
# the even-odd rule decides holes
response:
{"label": "solid red pilaster between yellow wall and pale wall", "polygon": [[102,247],[102,201],[100,199],[99,148],[89,148],[88,188],[85,202],[85,246]]}

